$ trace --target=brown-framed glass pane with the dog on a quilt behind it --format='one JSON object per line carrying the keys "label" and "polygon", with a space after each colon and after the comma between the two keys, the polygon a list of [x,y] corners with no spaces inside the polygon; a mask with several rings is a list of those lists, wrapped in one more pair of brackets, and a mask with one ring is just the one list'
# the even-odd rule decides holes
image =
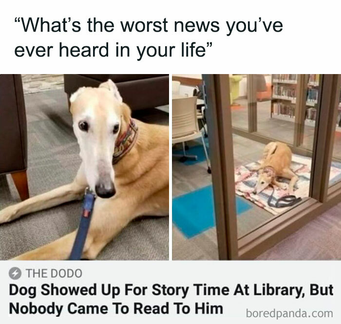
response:
{"label": "brown-framed glass pane with the dog on a quilt behind it", "polygon": [[[339,75],[246,78],[243,132],[234,127],[229,75],[203,75],[218,246],[227,259],[254,257],[321,209],[340,102]],[[285,203],[288,194],[298,199]]]}

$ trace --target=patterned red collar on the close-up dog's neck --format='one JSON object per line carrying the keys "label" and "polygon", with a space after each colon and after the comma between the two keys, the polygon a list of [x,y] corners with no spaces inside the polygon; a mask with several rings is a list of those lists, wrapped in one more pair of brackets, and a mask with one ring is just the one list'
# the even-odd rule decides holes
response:
{"label": "patterned red collar on the close-up dog's neck", "polygon": [[138,127],[133,118],[130,118],[128,130],[116,140],[113,155],[113,165],[121,160],[121,158],[133,148],[137,139],[137,134]]}

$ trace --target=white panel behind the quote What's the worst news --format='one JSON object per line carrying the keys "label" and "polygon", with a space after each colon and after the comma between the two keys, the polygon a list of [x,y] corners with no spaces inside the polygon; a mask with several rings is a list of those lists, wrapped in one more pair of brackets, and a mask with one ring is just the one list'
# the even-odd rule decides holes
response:
{"label": "white panel behind the quote What's the worst news", "polygon": [[[79,33],[23,32],[16,17],[43,17],[53,21],[64,17],[79,20]],[[86,20],[112,20],[112,33],[89,33]],[[226,20],[280,20],[283,31],[265,33],[232,32],[227,37]],[[123,33],[120,20],[169,21],[168,33]],[[177,33],[174,20],[217,20],[218,33]],[[172,0],[172,1],[5,1],[1,8],[1,73],[337,73],[340,72],[340,4],[335,0]],[[131,57],[73,58],[14,56],[17,45],[101,45],[106,41],[131,47]],[[205,57],[146,57],[136,60],[136,45],[176,45],[181,41],[205,44],[212,41]],[[55,48],[56,50],[56,48]]]}

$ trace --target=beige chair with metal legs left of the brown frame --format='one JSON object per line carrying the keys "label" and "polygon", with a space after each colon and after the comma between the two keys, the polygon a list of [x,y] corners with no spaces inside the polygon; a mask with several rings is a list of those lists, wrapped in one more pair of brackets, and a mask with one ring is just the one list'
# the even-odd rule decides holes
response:
{"label": "beige chair with metal legs left of the brown frame", "polygon": [[196,103],[196,96],[172,99],[172,145],[182,143],[183,148],[183,155],[173,154],[172,156],[180,156],[180,161],[186,161],[188,158],[197,159],[196,155],[186,154],[185,142],[201,138],[207,162],[207,171],[211,173],[204,137],[198,126]]}

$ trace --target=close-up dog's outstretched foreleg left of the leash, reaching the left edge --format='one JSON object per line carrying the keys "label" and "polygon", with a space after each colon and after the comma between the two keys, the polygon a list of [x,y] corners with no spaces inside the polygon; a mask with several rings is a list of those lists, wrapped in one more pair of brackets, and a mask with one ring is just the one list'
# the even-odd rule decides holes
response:
{"label": "close-up dog's outstretched foreleg left of the leash, reaching the left edge", "polygon": [[10,222],[30,212],[43,210],[71,200],[79,199],[82,197],[86,186],[86,179],[82,168],[80,168],[72,183],[0,210],[0,224]]}

